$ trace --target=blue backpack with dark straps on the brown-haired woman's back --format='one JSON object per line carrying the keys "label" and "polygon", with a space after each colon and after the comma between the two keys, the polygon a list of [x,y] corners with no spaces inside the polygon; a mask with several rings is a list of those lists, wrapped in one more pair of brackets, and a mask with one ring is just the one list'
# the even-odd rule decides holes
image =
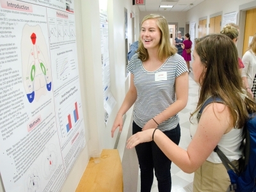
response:
{"label": "blue backpack with dark straps on the brown-haired woman's back", "polygon": [[[207,99],[198,112],[198,121],[204,108],[212,102],[224,103],[219,97],[210,97]],[[230,177],[230,191],[256,191],[256,115],[252,113],[249,113],[249,115],[250,118],[244,124],[244,140],[241,143],[242,146],[244,145],[244,157],[239,159],[239,170],[237,170],[223,152],[221,152],[218,145],[214,148],[214,152],[216,152],[220,157]],[[234,170],[232,170],[230,166],[234,168]]]}

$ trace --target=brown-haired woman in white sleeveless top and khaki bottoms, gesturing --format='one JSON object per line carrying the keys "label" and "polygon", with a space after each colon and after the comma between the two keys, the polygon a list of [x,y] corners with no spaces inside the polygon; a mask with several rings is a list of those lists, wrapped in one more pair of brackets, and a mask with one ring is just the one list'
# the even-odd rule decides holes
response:
{"label": "brown-haired woman in white sleeveless top and khaki bottoms, gesturing", "polygon": [[[243,89],[237,67],[237,48],[228,36],[211,34],[195,43],[193,74],[200,84],[199,100],[191,113],[191,142],[187,150],[169,140],[159,129],[148,129],[132,135],[127,148],[139,143],[156,143],[164,154],[181,170],[193,173],[193,191],[227,191],[230,185],[225,166],[213,151],[216,145],[238,167],[243,155],[243,125],[248,112],[256,112],[256,103]],[[221,70],[220,70],[221,68]],[[230,81],[232,79],[232,81]],[[208,104],[200,120],[197,115],[205,100],[219,97],[225,103]]]}

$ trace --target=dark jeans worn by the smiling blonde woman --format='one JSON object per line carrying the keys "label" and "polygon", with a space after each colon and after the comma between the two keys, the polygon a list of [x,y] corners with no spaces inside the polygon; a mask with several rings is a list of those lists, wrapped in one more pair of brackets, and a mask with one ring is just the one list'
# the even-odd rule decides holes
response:
{"label": "dark jeans worn by the smiling blonde woman", "polygon": [[[132,134],[140,132],[139,127],[132,123]],[[164,131],[164,134],[174,143],[179,145],[180,142],[180,125],[175,129]],[[154,179],[154,170],[157,178],[159,192],[170,192],[172,189],[171,164],[168,159],[157,147],[154,141],[140,143],[135,147],[140,164],[141,192],[150,192]]]}

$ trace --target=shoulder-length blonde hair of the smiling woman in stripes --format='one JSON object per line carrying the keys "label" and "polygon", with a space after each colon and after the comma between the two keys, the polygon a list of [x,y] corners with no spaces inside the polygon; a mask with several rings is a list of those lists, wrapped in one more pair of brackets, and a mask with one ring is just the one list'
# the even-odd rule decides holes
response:
{"label": "shoulder-length blonde hair of the smiling woman in stripes", "polygon": [[[171,45],[170,43],[170,33],[169,33],[169,27],[166,19],[161,15],[150,14],[143,18],[141,25],[145,20],[148,20],[148,19],[156,19],[157,20],[156,24],[161,31],[161,40],[160,40],[160,46],[158,50],[158,58],[160,61],[163,61],[164,58],[167,58],[168,56],[172,56],[173,54],[175,54],[177,52],[177,48]],[[138,52],[138,58],[141,61],[148,60],[148,51],[143,46],[141,38],[139,38],[139,46],[136,52]]]}

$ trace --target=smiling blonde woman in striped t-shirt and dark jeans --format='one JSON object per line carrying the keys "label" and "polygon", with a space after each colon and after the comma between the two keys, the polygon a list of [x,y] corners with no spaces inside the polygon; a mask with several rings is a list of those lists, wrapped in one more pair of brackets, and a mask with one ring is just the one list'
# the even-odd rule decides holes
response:
{"label": "smiling blonde woman in striped t-shirt and dark jeans", "polygon": [[[178,145],[178,113],[188,102],[188,69],[177,49],[170,44],[168,23],[163,16],[144,17],[138,52],[132,56],[127,70],[131,72],[130,88],[116,115],[111,136],[117,127],[122,131],[122,116],[134,104],[132,134],[157,127]],[[154,142],[141,143],[135,149],[140,164],[141,192],[151,190],[154,170],[159,192],[170,192],[172,161]]]}

